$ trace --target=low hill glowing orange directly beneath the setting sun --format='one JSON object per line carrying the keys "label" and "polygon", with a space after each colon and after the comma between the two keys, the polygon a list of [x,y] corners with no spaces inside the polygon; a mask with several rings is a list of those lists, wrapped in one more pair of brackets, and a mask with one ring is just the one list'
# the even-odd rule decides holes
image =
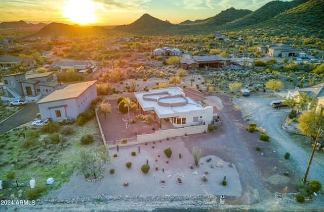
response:
{"label": "low hill glowing orange directly beneath the setting sun", "polygon": [[34,36],[84,36],[84,35],[96,35],[107,34],[108,30],[105,27],[94,26],[90,28],[83,28],[78,25],[67,25],[61,23],[50,23],[43,27]]}

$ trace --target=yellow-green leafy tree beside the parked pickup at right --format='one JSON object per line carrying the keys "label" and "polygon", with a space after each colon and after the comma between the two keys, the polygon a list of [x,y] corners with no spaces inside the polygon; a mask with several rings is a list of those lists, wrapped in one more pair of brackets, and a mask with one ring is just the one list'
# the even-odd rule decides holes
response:
{"label": "yellow-green leafy tree beside the parked pickup at right", "polygon": [[298,95],[289,98],[284,97],[284,104],[287,104],[295,112],[295,115],[303,113],[306,110],[312,110],[316,106],[313,100],[314,96],[308,96],[307,93],[298,93]]}

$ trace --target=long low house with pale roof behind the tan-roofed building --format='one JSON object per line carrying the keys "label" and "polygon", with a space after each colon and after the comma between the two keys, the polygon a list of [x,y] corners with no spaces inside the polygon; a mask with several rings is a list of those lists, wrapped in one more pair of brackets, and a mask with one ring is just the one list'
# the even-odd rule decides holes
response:
{"label": "long low house with pale roof behind the tan-roofed building", "polygon": [[50,65],[50,70],[56,72],[66,72],[69,69],[72,69],[74,73],[91,74],[97,70],[97,67],[94,61],[59,61]]}

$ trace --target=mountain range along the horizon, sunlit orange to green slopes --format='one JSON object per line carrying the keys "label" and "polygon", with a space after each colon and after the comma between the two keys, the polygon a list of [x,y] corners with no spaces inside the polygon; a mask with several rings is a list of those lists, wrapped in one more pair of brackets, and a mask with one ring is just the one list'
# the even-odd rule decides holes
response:
{"label": "mountain range along the horizon, sunlit orange to green slopes", "polygon": [[[293,0],[272,1],[258,10],[236,10],[229,8],[214,17],[204,20],[184,21],[171,24],[150,16],[142,15],[128,25],[107,29],[102,26],[80,27],[61,23],[44,26],[36,36],[83,36],[83,35],[206,35],[213,32],[244,32],[246,35],[285,35],[324,37],[324,1]],[[3,22],[6,26],[13,22]],[[0,24],[1,25],[3,24]],[[17,23],[16,23],[17,25]]]}

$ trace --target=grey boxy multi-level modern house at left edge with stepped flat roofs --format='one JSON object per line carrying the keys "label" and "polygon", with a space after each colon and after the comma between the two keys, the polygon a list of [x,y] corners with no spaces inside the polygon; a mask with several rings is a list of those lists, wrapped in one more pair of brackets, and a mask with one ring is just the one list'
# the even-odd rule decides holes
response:
{"label": "grey boxy multi-level modern house at left edge with stepped flat roofs", "polygon": [[58,89],[57,77],[54,72],[39,74],[17,73],[3,76],[3,90],[9,98],[35,96],[40,93],[48,95]]}

